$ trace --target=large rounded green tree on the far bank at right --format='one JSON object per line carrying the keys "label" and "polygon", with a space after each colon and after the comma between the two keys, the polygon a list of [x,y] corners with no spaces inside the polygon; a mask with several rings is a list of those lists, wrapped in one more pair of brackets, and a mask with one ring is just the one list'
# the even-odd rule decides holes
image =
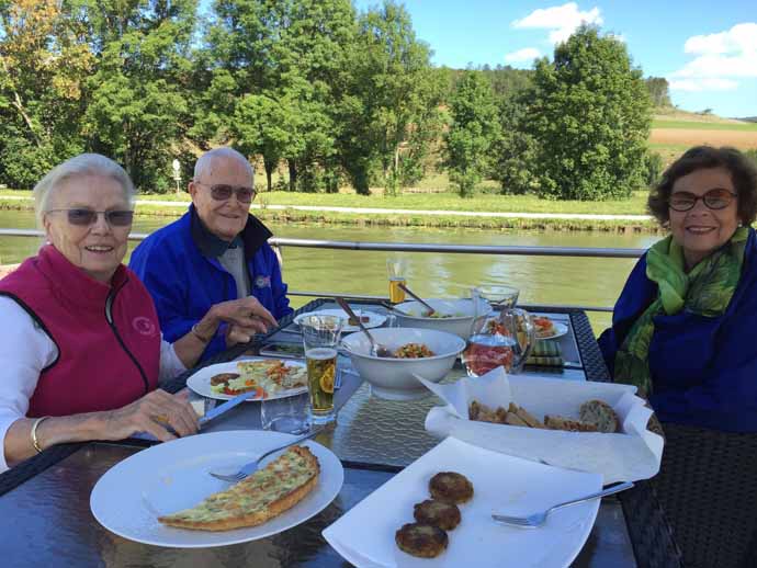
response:
{"label": "large rounded green tree on the far bank at right", "polygon": [[533,81],[526,124],[540,195],[618,198],[644,184],[649,95],[622,42],[584,25],[553,63],[538,61]]}

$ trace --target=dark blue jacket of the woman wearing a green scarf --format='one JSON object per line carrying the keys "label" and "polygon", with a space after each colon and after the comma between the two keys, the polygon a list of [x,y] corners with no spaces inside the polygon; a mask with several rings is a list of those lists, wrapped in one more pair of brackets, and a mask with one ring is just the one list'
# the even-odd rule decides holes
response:
{"label": "dark blue jacket of the woman wearing a green scarf", "polygon": [[[599,338],[613,371],[615,352],[633,322],[657,297],[646,277],[646,254],[615,304],[612,328]],[[704,317],[682,310],[654,318],[649,371],[655,412],[664,422],[730,432],[757,432],[757,239],[744,252],[742,277],[725,313]]]}

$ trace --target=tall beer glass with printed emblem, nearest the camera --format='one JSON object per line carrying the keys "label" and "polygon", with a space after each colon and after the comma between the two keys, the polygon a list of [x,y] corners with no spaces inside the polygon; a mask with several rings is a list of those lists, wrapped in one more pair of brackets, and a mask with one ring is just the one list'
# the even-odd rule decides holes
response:
{"label": "tall beer glass with printed emblem, nearest the camera", "polygon": [[334,382],[337,376],[337,345],[343,325],[344,320],[338,316],[307,316],[300,322],[313,424],[325,424],[336,418]]}

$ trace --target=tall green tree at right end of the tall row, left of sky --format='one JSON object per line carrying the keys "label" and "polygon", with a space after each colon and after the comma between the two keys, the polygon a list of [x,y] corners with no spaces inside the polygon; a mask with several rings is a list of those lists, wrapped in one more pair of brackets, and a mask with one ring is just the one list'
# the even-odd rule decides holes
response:
{"label": "tall green tree at right end of the tall row, left of sky", "polygon": [[375,166],[386,192],[396,194],[403,148],[413,133],[426,132],[426,121],[438,121],[441,91],[430,55],[404,7],[386,1],[359,16],[338,107],[342,166],[359,193],[369,193]]}

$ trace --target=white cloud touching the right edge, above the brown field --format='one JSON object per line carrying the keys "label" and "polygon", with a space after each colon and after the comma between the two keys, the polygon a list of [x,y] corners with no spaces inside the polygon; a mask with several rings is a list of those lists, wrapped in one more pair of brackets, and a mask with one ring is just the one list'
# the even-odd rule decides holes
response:
{"label": "white cloud touching the right edge, above the brown field", "polygon": [[725,32],[694,35],[686,41],[683,52],[694,58],[669,75],[671,89],[735,89],[738,82],[734,79],[757,77],[757,23],[745,22]]}

